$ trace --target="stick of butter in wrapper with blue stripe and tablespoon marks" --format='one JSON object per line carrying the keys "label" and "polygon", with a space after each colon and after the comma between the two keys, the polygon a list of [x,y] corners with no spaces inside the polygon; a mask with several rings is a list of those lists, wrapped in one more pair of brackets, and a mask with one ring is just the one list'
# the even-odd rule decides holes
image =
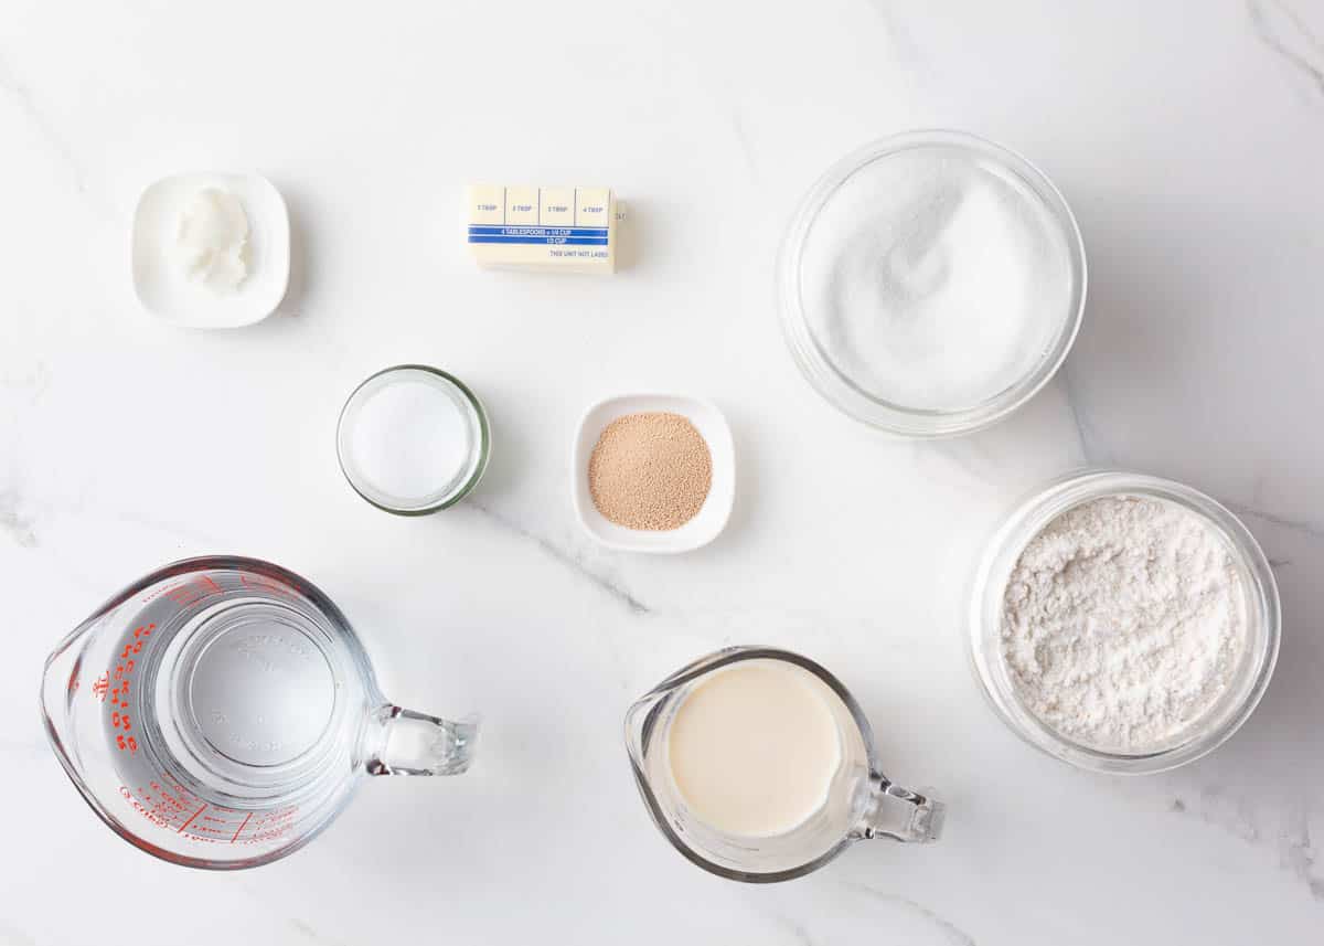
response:
{"label": "stick of butter in wrapper with blue stripe and tablespoon marks", "polygon": [[616,272],[621,213],[610,188],[471,184],[465,197],[479,266]]}

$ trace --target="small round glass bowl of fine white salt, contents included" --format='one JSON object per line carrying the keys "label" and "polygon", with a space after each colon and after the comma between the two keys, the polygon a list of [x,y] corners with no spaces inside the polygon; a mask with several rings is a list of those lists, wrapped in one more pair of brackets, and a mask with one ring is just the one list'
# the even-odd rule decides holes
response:
{"label": "small round glass bowl of fine white salt, contents included", "polygon": [[453,375],[397,364],[354,390],[336,425],[340,470],[377,509],[424,515],[459,502],[487,469],[482,403]]}

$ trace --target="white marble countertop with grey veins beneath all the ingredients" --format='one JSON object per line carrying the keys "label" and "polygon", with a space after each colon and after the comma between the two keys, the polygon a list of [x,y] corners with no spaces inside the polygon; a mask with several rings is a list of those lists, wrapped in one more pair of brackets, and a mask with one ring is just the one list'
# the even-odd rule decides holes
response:
{"label": "white marble countertop with grey veins beneath all the ingredients", "polygon": [[[0,943],[1321,942],[1324,8],[638,7],[5,4]],[[1057,382],[941,444],[821,401],[772,280],[809,183],[922,126],[1037,160],[1091,268]],[[184,170],[257,170],[289,199],[294,280],[265,323],[139,310],[134,201]],[[613,185],[637,264],[479,272],[457,229],[474,179]],[[334,458],[346,394],[400,360],[454,371],[493,415],[487,478],[430,518],[369,507]],[[579,413],[642,388],[711,397],[735,431],[733,519],[699,552],[608,552],[572,518]],[[1082,462],[1223,499],[1282,583],[1267,698],[1168,775],[1035,754],[967,666],[984,530]],[[111,591],[205,551],[319,583],[397,702],[481,710],[475,768],[373,780],[310,848],[234,874],[98,824],[41,733],[41,661]],[[622,713],[748,641],[845,678],[888,774],[948,803],[939,844],[861,844],[760,888],[667,847]]]}

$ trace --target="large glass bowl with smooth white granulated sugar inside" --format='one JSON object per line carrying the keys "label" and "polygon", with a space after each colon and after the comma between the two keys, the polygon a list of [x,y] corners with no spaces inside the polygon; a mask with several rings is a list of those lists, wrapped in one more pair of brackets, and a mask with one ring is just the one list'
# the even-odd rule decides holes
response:
{"label": "large glass bowl with smooth white granulated sugar inside", "polygon": [[869,144],[810,189],[779,262],[800,370],[894,435],[988,427],[1053,378],[1080,326],[1084,244],[1025,158],[973,135]]}

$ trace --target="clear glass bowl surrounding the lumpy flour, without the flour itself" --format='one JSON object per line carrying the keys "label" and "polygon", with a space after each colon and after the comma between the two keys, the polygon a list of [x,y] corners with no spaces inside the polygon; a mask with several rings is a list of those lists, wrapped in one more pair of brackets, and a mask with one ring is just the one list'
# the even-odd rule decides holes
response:
{"label": "clear glass bowl surrounding the lumpy flour, without the flour itself", "polygon": [[[1026,545],[1068,509],[1106,496],[1161,499],[1194,513],[1226,543],[1241,575],[1247,640],[1241,664],[1218,702],[1169,745],[1145,753],[1111,753],[1066,738],[1042,722],[1016,693],[1001,651],[1002,596]],[[1282,611],[1268,559],[1241,519],[1190,486],[1123,470],[1063,476],[1016,506],[989,541],[970,595],[969,635],[974,674],[993,709],[1031,746],[1098,772],[1140,775],[1193,762],[1226,742],[1259,704],[1278,660]]]}

